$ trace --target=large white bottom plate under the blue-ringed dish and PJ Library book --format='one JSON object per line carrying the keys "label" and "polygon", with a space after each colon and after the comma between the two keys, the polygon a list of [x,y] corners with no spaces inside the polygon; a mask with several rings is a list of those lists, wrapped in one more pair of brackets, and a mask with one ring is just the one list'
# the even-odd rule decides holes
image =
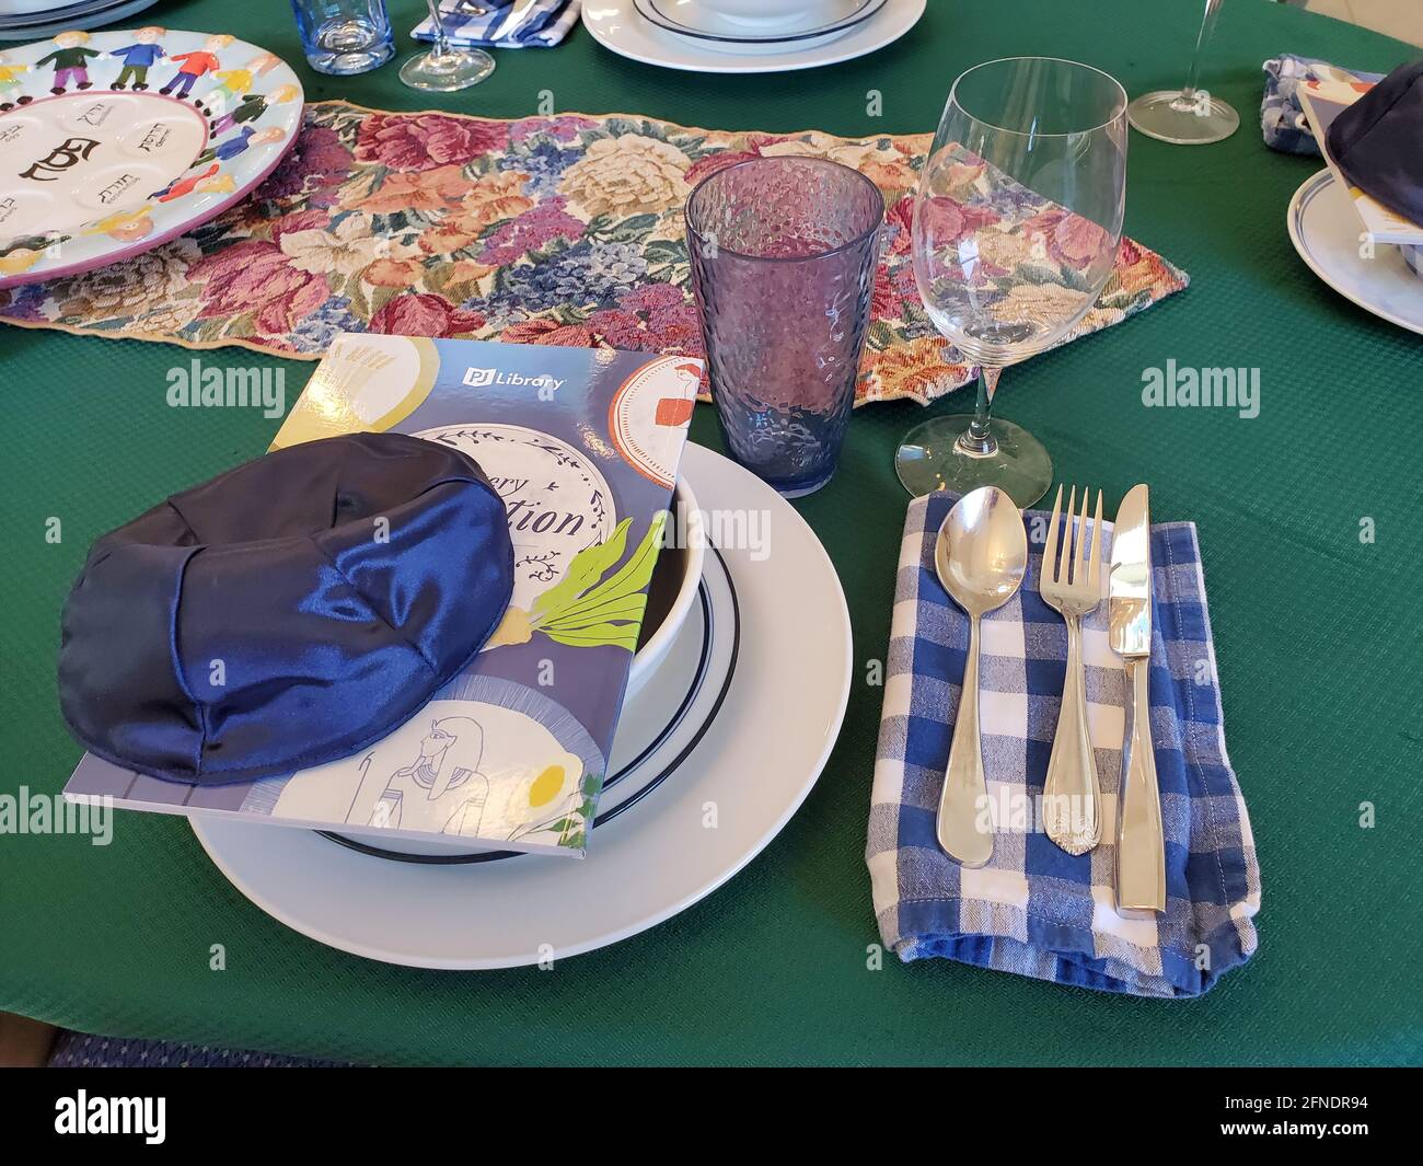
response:
{"label": "large white bottom plate under the blue-ringed dish and PJ Library book", "polygon": [[[850,615],[804,520],[747,470],[689,446],[704,513],[768,535],[721,542],[739,662],[712,730],[588,858],[472,866],[388,861],[305,830],[192,823],[256,905],[330,947],[423,968],[508,968],[605,947],[686,910],[774,839],[820,776],[850,696]],[[753,527],[751,522],[757,525]],[[716,525],[712,531],[716,541]],[[754,540],[743,538],[753,542]]]}

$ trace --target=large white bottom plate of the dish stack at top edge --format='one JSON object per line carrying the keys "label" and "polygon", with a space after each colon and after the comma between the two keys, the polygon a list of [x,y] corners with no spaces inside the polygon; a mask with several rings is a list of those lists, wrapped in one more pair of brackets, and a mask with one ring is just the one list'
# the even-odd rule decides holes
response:
{"label": "large white bottom plate of the dish stack at top edge", "polygon": [[692,37],[659,28],[638,13],[633,0],[583,4],[583,26],[605,48],[643,64],[690,73],[788,73],[848,61],[884,48],[918,23],[925,4],[926,0],[889,0],[844,36],[831,34],[810,47],[744,56],[731,51],[734,47],[706,48]]}

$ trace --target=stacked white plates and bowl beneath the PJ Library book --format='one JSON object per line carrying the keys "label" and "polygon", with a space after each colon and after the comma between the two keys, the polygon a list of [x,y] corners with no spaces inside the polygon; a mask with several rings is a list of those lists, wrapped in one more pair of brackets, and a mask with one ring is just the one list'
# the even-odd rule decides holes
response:
{"label": "stacked white plates and bowl beneath the PJ Library book", "polygon": [[616,942],[731,878],[830,757],[850,696],[850,616],[824,548],[776,491],[693,444],[682,474],[679,508],[704,525],[689,524],[670,606],[638,652],[586,858],[194,817],[218,868],[319,942],[468,970]]}

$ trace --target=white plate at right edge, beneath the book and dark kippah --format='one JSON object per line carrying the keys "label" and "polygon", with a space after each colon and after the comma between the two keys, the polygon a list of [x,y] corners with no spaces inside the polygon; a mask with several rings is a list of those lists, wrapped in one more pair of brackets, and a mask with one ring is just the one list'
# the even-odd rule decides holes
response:
{"label": "white plate at right edge, beneath the book and dark kippah", "polygon": [[1379,243],[1372,259],[1359,255],[1359,215],[1328,169],[1295,191],[1285,222],[1299,258],[1325,283],[1375,316],[1423,333],[1423,279],[1389,243]]}

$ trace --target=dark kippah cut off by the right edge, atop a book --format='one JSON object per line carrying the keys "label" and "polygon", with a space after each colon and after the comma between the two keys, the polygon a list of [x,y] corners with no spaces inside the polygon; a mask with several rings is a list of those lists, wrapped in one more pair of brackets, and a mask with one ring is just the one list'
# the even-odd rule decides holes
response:
{"label": "dark kippah cut off by the right edge, atop a book", "polygon": [[1379,81],[1333,120],[1328,138],[1352,187],[1423,224],[1423,61]]}

